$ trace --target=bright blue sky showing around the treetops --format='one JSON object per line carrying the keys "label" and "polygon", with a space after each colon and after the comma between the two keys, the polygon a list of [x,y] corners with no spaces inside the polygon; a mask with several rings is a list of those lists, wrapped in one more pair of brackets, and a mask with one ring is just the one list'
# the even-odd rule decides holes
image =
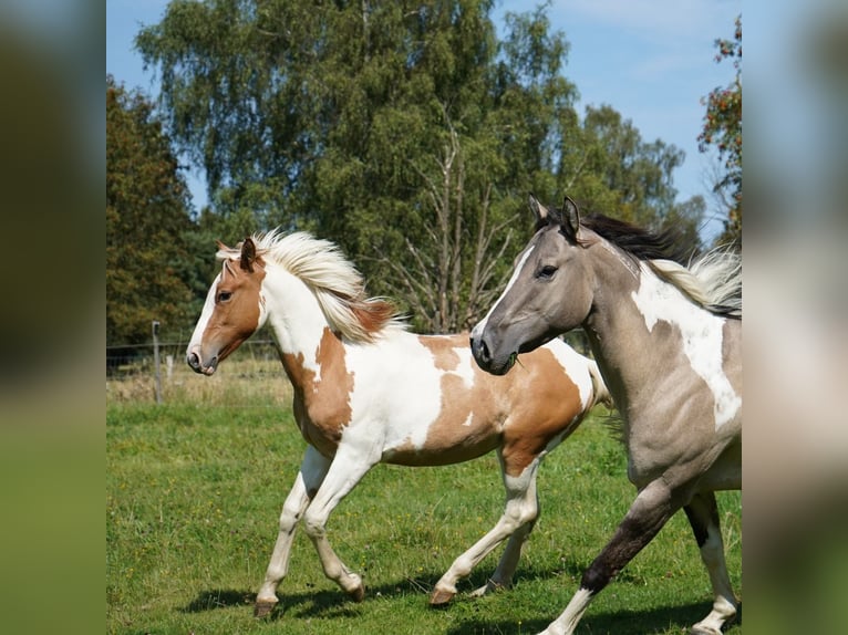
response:
{"label": "bright blue sky showing around the treetops", "polygon": [[[166,6],[166,0],[106,1],[106,72],[152,96],[158,92],[155,75],[144,72],[133,39],[141,25],[158,22]],[[528,7],[526,0],[506,0],[496,4],[494,17],[499,22],[506,11]],[[684,150],[684,165],[674,174],[678,198],[700,194],[709,208],[714,162],[697,150],[701,98],[734,76],[728,62],[715,63],[713,42],[733,35],[740,13],[742,0],[554,0],[548,11],[551,28],[571,44],[565,75],[580,92],[580,112],[609,104],[644,140],[660,138]],[[187,176],[199,209],[207,200],[203,174]],[[702,235],[709,239],[721,228],[713,219]]]}

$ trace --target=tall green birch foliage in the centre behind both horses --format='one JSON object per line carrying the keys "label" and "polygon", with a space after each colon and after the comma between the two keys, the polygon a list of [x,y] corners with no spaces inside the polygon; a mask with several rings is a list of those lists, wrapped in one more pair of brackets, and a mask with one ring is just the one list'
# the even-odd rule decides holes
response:
{"label": "tall green birch foliage in the centre behind both horses", "polygon": [[311,229],[431,332],[494,300],[528,191],[695,236],[701,208],[673,202],[682,154],[608,107],[581,123],[547,7],[507,14],[498,40],[493,4],[170,2],[136,45],[209,177],[208,227]]}

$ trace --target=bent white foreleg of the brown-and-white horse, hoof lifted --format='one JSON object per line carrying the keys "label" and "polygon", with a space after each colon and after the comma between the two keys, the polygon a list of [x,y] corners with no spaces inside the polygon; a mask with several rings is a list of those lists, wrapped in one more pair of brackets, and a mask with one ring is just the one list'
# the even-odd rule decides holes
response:
{"label": "bent white foreleg of the brown-and-white horse, hoof lifted", "polygon": [[376,462],[365,460],[362,456],[340,447],[324,482],[303,516],[303,531],[318,552],[324,575],[341,586],[355,602],[364,598],[365,587],[362,579],[344,565],[330,545],[327,539],[327,521],[333,509]]}

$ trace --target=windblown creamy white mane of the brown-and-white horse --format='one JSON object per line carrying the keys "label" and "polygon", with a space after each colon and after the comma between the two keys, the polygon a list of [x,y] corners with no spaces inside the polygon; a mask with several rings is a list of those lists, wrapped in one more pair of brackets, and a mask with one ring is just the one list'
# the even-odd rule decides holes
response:
{"label": "windblown creamy white mane of the brown-and-white horse", "polygon": [[[257,257],[285,268],[309,287],[330,327],[351,342],[374,342],[389,329],[405,329],[405,321],[385,298],[368,298],[362,274],[329,240],[304,231],[282,235],[279,229],[255,233]],[[241,244],[223,248],[219,260],[237,259]]]}

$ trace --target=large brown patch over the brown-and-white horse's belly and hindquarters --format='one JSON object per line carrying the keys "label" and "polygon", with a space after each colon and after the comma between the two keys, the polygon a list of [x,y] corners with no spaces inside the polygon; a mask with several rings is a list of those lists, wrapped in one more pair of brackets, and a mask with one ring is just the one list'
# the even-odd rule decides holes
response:
{"label": "large brown patch over the brown-and-white horse's belly and hindquarters", "polygon": [[[442,409],[423,448],[397,448],[392,462],[447,465],[479,457],[503,445],[505,472],[519,476],[547,445],[568,436],[582,418],[580,392],[554,354],[539,348],[503,376],[489,375],[456,350],[466,335],[420,337],[442,376]],[[461,363],[470,364],[473,383]],[[561,440],[561,439],[560,439]]]}

